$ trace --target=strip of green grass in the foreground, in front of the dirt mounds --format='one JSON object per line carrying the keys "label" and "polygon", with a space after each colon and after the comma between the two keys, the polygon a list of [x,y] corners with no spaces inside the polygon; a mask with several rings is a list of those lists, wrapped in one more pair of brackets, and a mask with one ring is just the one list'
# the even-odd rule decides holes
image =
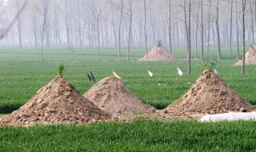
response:
{"label": "strip of green grass in the foreground, in front of the dirt mounds", "polygon": [[256,122],[0,127],[1,151],[254,151]]}

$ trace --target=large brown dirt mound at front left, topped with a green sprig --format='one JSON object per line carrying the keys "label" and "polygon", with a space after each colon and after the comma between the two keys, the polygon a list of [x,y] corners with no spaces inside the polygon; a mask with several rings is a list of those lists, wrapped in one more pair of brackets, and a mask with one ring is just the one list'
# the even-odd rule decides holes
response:
{"label": "large brown dirt mound at front left, topped with a green sprig", "polygon": [[0,126],[88,123],[109,119],[109,114],[79,94],[66,78],[56,77],[24,106],[0,118]]}

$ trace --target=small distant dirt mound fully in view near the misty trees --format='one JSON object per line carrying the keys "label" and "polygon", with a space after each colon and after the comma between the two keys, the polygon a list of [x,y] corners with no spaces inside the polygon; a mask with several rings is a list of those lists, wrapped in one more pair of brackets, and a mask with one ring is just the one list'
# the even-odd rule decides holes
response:
{"label": "small distant dirt mound fully in view near the misty trees", "polygon": [[138,61],[174,61],[177,58],[161,44],[155,45],[149,53],[147,53],[143,58]]}

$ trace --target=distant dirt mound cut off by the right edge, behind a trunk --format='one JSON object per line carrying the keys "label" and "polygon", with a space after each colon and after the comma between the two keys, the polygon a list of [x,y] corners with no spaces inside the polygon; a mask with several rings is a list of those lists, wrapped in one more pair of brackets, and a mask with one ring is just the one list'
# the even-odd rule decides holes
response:
{"label": "distant dirt mound cut off by the right edge, behind a trunk", "polygon": [[[256,65],[256,45],[247,50],[245,65]],[[242,66],[242,59],[234,63],[234,66]]]}

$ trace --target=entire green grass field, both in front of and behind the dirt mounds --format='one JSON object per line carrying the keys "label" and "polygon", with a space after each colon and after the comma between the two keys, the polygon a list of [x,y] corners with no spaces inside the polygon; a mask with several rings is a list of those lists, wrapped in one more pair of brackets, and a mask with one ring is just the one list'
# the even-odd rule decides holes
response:
{"label": "entire green grass field, both in front of and behind the dirt mounds", "polygon": [[[99,81],[114,70],[130,91],[158,109],[182,96],[205,69],[202,61],[192,61],[192,74],[188,76],[186,61],[137,62],[143,54],[144,50],[133,49],[131,61],[127,62],[126,50],[122,50],[122,62],[118,62],[117,50],[102,49],[98,61],[97,50],[75,50],[72,54],[65,49],[50,49],[44,51],[41,63],[39,50],[0,50],[0,114],[8,114],[26,103],[57,75],[61,64],[65,65],[64,77],[81,94],[93,85],[86,72],[92,71]],[[183,48],[176,48],[174,54],[186,58]],[[210,50],[210,57],[217,57],[215,48]],[[240,66],[232,66],[237,60],[227,59],[227,48],[222,49],[222,57],[216,66],[218,75],[232,90],[256,105],[256,66],[246,66],[246,74],[242,75]],[[183,71],[182,77],[178,76],[176,66]],[[148,76],[147,69],[154,73],[153,78]],[[88,126],[0,127],[0,151],[250,151],[256,148],[254,126],[255,122],[138,120]]]}

